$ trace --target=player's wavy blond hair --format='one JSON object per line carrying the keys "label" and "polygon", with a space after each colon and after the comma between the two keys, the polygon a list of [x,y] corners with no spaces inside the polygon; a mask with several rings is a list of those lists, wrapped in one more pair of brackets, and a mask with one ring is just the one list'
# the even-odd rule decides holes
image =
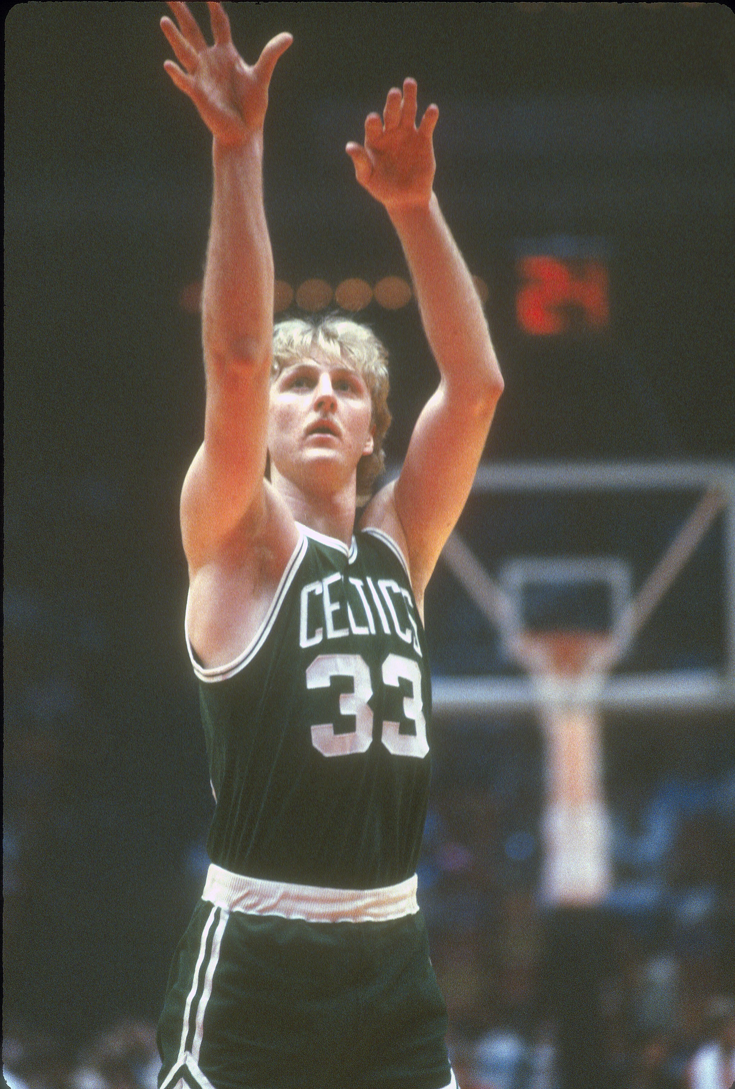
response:
{"label": "player's wavy blond hair", "polygon": [[385,467],[382,444],[391,423],[388,409],[388,352],[371,329],[358,326],[348,318],[339,315],[330,315],[321,321],[293,318],[280,321],[273,329],[272,377],[292,363],[307,357],[315,346],[332,359],[354,367],[370,391],[373,449],[371,454],[364,454],[357,463],[357,505],[364,506],[372,494],[376,478]]}

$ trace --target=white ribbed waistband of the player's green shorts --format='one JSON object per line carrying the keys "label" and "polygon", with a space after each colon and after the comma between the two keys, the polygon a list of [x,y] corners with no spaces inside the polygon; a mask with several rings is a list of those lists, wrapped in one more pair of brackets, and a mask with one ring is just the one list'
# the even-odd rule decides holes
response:
{"label": "white ribbed waistband of the player's green shorts", "polygon": [[229,911],[307,922],[385,922],[418,911],[416,874],[383,889],[320,889],[231,873],[212,862],[201,898]]}

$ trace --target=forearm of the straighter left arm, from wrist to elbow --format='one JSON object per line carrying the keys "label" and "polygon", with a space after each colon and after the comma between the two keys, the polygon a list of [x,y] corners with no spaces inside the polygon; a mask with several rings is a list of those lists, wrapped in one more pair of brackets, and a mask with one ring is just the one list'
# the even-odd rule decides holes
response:
{"label": "forearm of the straighter left arm, from wrist to elbow", "polygon": [[207,367],[270,354],[273,258],[262,200],[262,132],[212,147],[213,195],[201,298]]}

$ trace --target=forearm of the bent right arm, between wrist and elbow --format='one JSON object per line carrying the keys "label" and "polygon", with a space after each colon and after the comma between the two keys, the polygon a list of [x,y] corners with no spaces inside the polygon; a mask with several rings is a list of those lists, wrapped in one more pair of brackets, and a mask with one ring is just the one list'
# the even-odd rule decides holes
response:
{"label": "forearm of the bent right arm, between wrist and elbow", "polygon": [[471,403],[497,397],[503,379],[469,270],[436,195],[428,207],[389,209],[414,282],[429,346],[448,388]]}

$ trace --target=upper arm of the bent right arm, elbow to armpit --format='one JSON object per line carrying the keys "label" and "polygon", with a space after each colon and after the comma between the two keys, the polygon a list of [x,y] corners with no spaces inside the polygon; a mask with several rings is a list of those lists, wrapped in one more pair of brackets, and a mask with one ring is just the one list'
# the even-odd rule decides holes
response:
{"label": "upper arm of the bent right arm, elbow to armpit", "polygon": [[417,592],[467,501],[499,395],[490,390],[470,399],[442,381],[416,423],[393,503]]}

